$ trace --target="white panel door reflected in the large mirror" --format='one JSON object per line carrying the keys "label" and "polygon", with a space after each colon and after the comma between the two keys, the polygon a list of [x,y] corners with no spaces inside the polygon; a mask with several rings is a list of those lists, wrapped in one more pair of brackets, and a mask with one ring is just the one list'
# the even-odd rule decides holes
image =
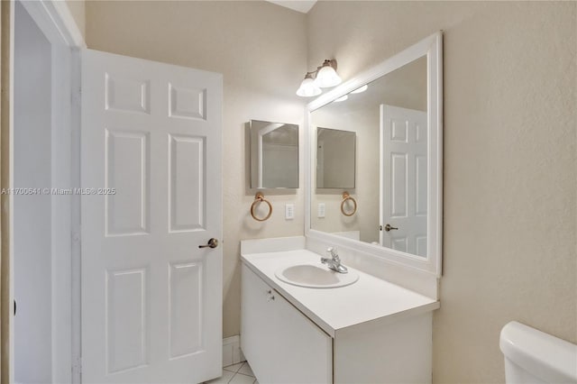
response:
{"label": "white panel door reflected in the large mirror", "polygon": [[426,257],[426,112],[380,105],[380,143],[380,243]]}

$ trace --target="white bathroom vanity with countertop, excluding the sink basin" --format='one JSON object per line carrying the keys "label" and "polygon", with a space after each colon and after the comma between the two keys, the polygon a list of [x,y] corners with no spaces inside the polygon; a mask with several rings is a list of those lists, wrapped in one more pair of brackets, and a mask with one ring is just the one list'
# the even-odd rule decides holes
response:
{"label": "white bathroom vanity with countertop, excluding the sink basin", "polygon": [[328,289],[274,275],[316,259],[307,250],[243,254],[241,347],[259,382],[431,382],[438,302],[361,271],[353,285]]}

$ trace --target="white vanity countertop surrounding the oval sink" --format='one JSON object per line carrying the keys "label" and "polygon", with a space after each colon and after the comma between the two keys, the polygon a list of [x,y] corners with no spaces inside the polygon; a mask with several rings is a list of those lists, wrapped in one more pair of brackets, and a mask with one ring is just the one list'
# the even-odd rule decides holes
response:
{"label": "white vanity countertop surrounding the oval sink", "polygon": [[[303,288],[278,279],[281,267],[308,262],[320,263],[321,256],[308,250],[270,251],[243,254],[242,261],[271,288],[298,307],[308,318],[334,337],[339,331],[370,321],[397,321],[437,309],[440,304],[388,281],[354,270],[359,280],[340,288]],[[346,264],[344,264],[346,265]]]}

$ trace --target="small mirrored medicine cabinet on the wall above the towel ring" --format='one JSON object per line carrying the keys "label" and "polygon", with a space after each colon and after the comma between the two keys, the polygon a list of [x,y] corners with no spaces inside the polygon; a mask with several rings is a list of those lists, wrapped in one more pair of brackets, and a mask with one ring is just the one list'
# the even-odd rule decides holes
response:
{"label": "small mirrored medicine cabinet on the wall above the towel ring", "polygon": [[298,188],[298,125],[251,120],[251,187]]}

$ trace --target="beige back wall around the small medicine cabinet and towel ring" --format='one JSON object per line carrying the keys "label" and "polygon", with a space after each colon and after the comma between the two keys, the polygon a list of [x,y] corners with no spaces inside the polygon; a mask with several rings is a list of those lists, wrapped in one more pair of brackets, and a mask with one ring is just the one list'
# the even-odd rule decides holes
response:
{"label": "beige back wall around the small medicine cabinet and towel ring", "polygon": [[[86,8],[88,48],[224,74],[224,337],[239,334],[240,240],[303,233],[302,176],[298,192],[265,192],[275,211],[267,222],[252,220],[244,123],[302,125],[304,101],[295,92],[307,65],[305,15],[243,1],[89,1]],[[294,220],[284,219],[285,203],[296,205]]]}

